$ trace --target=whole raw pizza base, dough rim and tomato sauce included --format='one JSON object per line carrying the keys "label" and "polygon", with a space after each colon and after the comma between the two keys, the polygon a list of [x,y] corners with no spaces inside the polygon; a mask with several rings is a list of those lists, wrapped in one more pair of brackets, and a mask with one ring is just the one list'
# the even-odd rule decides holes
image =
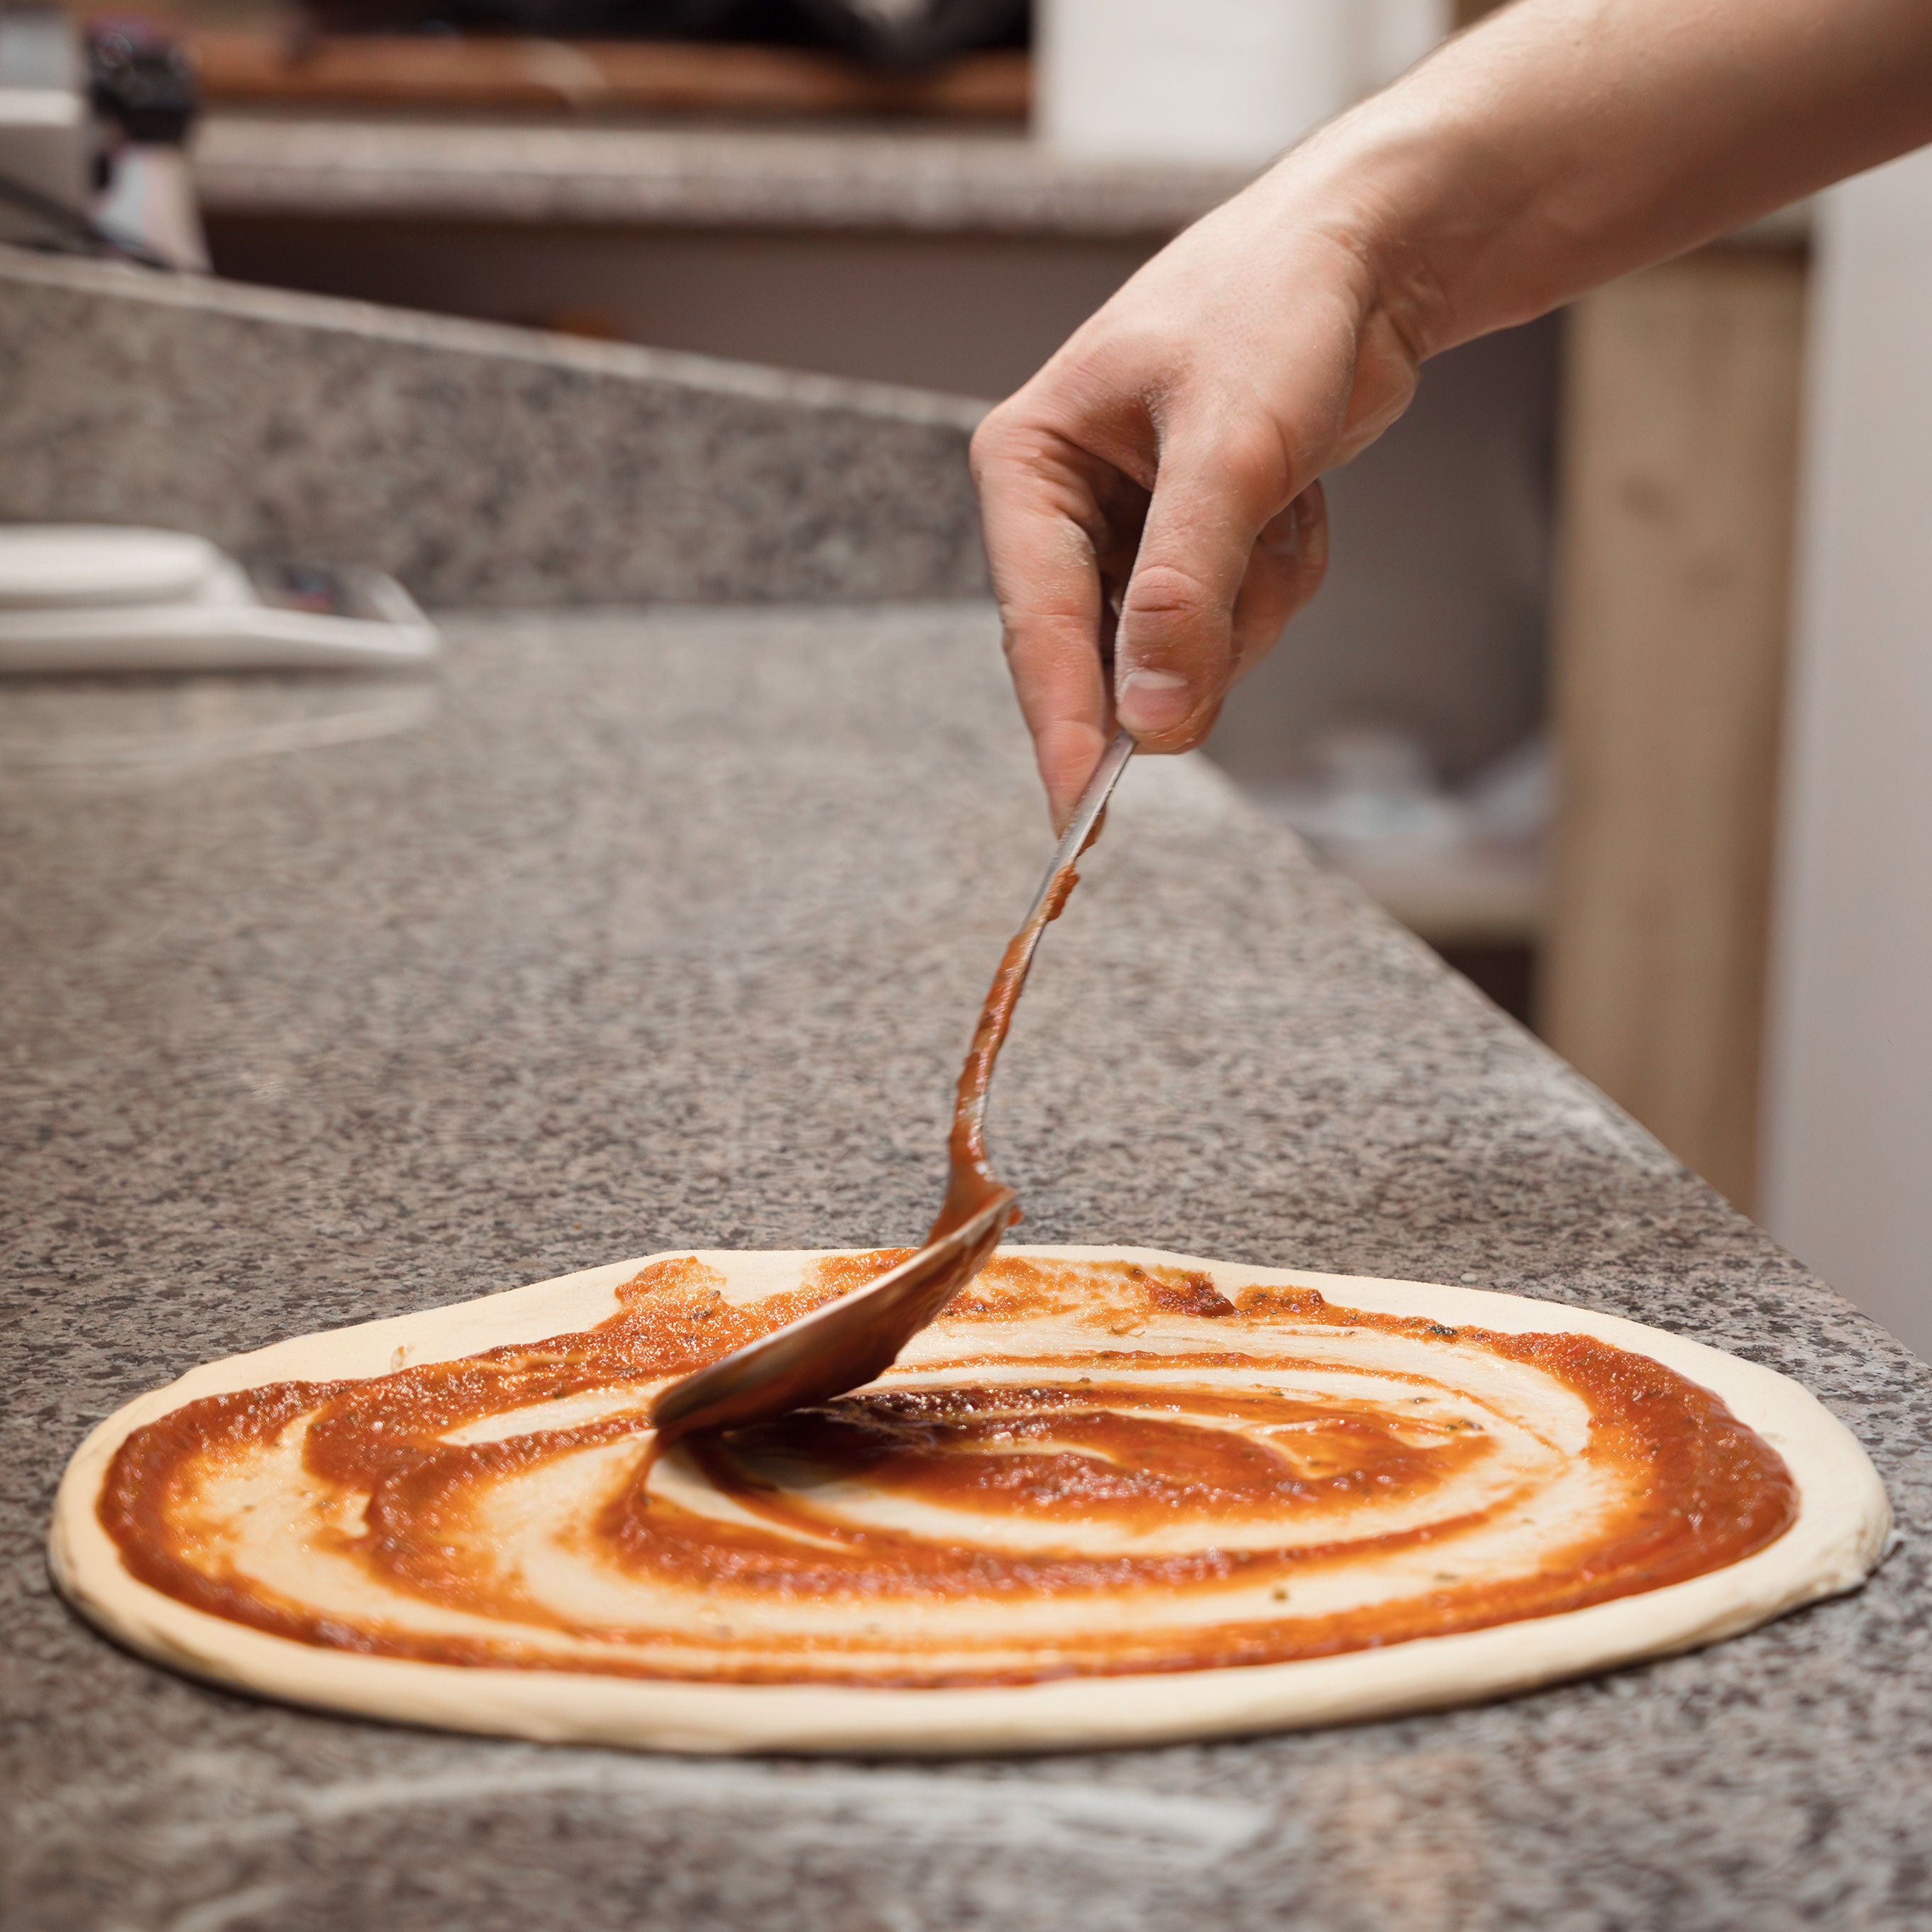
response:
{"label": "whole raw pizza base, dough rim and tomato sauce included", "polygon": [[1001,1250],[866,1399],[651,1463],[670,1374],[896,1258],[653,1256],[213,1362],[83,1443],[54,1578],[299,1704],[937,1754],[1476,1702],[1849,1590],[1889,1530],[1851,1434],[1716,1349],[1146,1248]]}

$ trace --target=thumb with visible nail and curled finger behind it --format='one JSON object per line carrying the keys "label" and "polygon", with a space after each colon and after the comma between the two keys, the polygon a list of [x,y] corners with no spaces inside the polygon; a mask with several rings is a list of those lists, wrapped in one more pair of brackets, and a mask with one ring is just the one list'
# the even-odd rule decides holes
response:
{"label": "thumb with visible nail and curled finger behind it", "polygon": [[1146,750],[1200,744],[1235,676],[1314,595],[1325,506],[1320,485],[1291,497],[1291,481],[1267,439],[1163,452],[1115,643],[1115,711]]}

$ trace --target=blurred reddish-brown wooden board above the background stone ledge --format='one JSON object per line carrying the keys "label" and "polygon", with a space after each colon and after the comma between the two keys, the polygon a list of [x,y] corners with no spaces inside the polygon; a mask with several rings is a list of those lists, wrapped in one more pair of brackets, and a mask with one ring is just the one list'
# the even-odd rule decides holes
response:
{"label": "blurred reddish-brown wooden board above the background stone ledge", "polygon": [[514,108],[721,116],[922,116],[1024,122],[1032,62],[966,54],[887,73],[792,46],[539,41],[518,35],[185,35],[216,106]]}

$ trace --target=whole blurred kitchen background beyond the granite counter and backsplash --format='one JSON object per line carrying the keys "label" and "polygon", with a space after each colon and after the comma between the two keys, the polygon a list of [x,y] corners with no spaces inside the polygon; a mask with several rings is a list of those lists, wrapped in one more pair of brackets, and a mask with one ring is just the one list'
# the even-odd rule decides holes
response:
{"label": "whole blurred kitchen background beyond the granite counter and backsplash", "polygon": [[[1482,12],[8,6],[0,240],[997,398]],[[1928,313],[1917,156],[1445,355],[1211,744],[1920,1349]]]}

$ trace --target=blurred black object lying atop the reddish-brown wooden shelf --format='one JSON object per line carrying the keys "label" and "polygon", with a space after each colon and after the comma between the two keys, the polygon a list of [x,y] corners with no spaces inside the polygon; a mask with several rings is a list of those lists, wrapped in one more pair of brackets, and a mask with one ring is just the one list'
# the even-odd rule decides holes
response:
{"label": "blurred black object lying atop the reddish-brown wooden shelf", "polygon": [[471,33],[837,46],[922,68],[1026,39],[1028,0],[303,0],[323,33]]}

